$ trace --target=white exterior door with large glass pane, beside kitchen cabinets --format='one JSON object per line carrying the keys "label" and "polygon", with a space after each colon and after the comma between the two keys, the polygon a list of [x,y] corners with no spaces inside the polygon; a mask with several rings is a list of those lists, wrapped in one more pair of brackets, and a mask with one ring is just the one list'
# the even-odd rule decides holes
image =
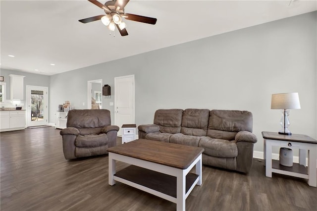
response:
{"label": "white exterior door with large glass pane, beside kitchen cabinets", "polygon": [[26,86],[27,126],[48,124],[48,87]]}

